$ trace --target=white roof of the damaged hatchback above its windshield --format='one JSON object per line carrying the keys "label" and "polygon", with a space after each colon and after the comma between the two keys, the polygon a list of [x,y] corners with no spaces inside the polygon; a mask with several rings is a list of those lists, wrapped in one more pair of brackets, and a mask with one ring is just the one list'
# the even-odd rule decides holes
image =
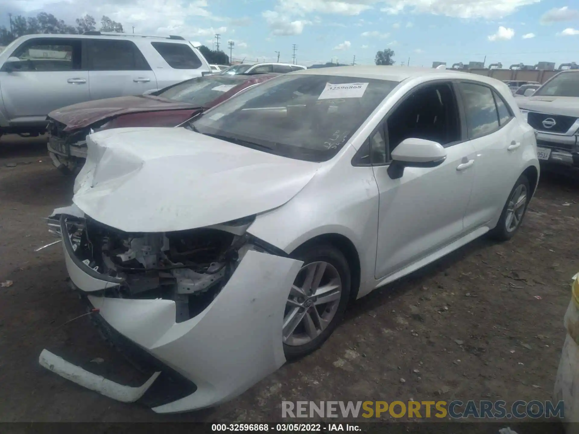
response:
{"label": "white roof of the damaged hatchback above its windshield", "polygon": [[[478,81],[482,83],[493,84],[499,82],[494,78],[483,75],[473,74],[470,72],[449,71],[448,69],[436,68],[415,68],[415,67],[394,67],[394,66],[375,66],[375,65],[356,65],[345,67],[313,68],[294,71],[292,75],[335,75],[352,78],[371,78],[378,80],[391,80],[401,82],[409,78],[419,78],[431,76],[439,79],[463,79]],[[499,82],[500,83],[500,82]]]}

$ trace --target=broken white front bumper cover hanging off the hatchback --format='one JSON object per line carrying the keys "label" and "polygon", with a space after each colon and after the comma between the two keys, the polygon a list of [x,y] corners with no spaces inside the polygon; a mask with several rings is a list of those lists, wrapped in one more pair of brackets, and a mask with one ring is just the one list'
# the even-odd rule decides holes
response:
{"label": "broken white front bumper cover hanging off the hatchback", "polygon": [[285,363],[284,308],[302,262],[249,250],[208,307],[176,322],[173,300],[104,296],[103,290],[121,285],[122,279],[100,274],[76,258],[65,224],[61,217],[68,273],[98,308],[96,315],[197,387],[183,398],[153,407],[157,413],[226,402]]}

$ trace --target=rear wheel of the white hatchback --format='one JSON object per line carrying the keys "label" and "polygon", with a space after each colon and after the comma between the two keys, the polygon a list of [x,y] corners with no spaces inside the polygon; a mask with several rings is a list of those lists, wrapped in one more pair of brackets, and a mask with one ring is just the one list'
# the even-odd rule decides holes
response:
{"label": "rear wheel of the white hatchback", "polygon": [[525,217],[530,194],[529,179],[525,175],[519,176],[509,193],[497,226],[489,232],[491,238],[508,241],[515,235]]}

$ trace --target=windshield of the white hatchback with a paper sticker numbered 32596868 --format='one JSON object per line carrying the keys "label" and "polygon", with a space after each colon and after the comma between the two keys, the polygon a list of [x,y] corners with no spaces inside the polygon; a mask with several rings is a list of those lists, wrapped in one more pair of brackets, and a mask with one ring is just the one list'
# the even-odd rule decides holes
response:
{"label": "windshield of the white hatchback with a paper sticker numbered 32596868", "polygon": [[398,82],[283,75],[190,123],[194,131],[307,161],[331,159]]}

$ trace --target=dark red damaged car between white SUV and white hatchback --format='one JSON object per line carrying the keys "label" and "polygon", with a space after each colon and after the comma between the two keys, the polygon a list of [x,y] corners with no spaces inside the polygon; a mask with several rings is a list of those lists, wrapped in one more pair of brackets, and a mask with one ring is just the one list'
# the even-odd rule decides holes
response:
{"label": "dark red damaged car between white SUV and white hatchback", "polygon": [[48,153],[64,174],[80,170],[86,159],[86,136],[122,127],[177,127],[241,90],[276,73],[206,75],[156,92],[69,105],[48,114]]}

